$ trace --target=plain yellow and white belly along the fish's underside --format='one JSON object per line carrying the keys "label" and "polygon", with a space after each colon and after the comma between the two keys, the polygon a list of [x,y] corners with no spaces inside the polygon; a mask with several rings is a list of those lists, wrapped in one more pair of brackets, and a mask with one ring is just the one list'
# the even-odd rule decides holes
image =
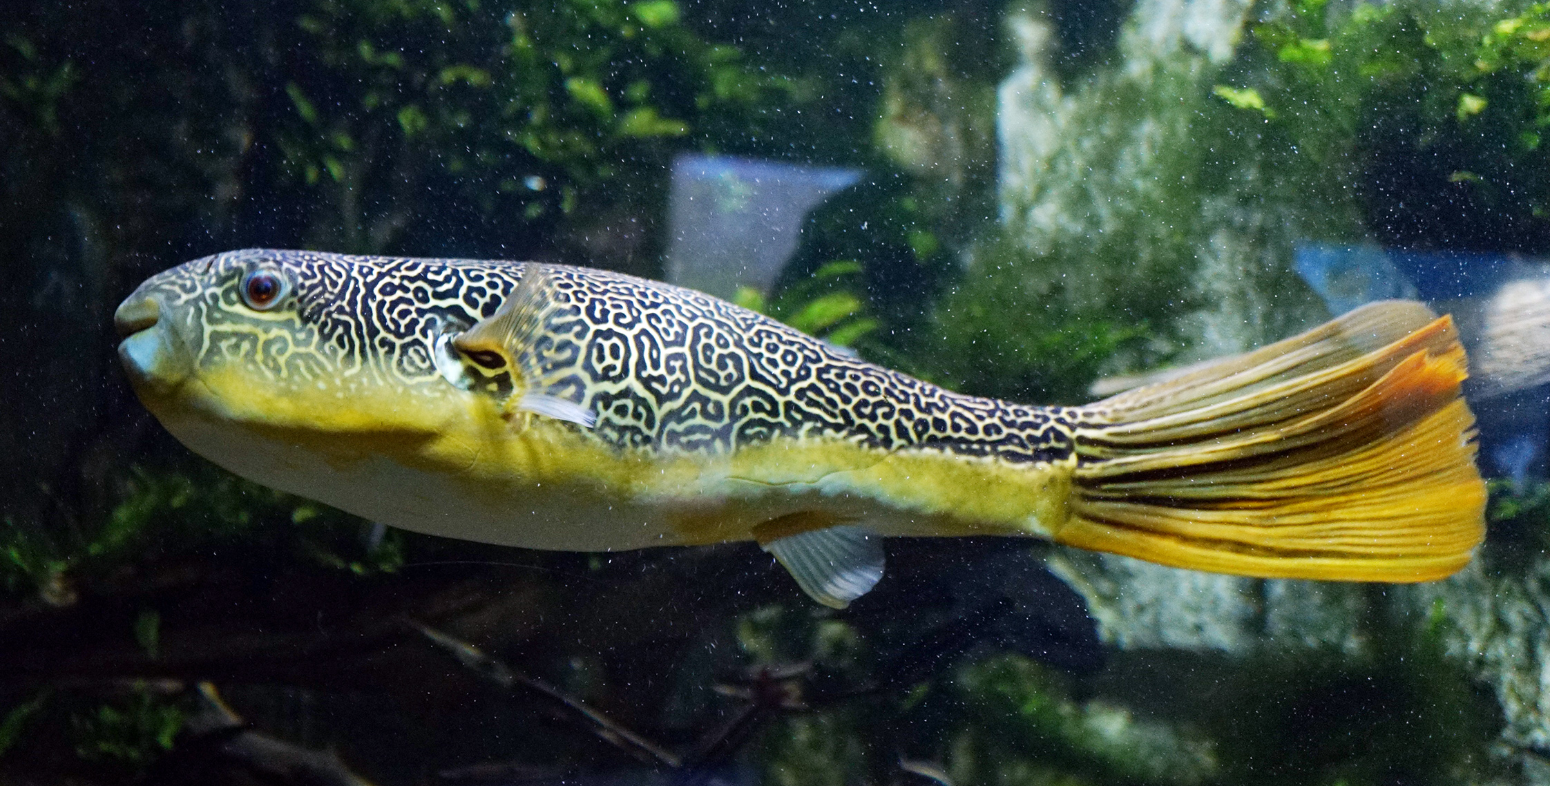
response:
{"label": "plain yellow and white belly along the fish's underside", "polygon": [[[732,454],[620,451],[569,423],[502,415],[450,391],[339,412],[329,391],[290,391],[284,408],[222,380],[220,412],[158,408],[197,453],[276,488],[383,524],[451,538],[560,550],[622,550],[753,538],[792,513],[865,522],[880,535],[1049,536],[1066,518],[1071,467],[941,451],[880,451],[837,439],[777,439]],[[248,394],[251,397],[253,394]],[[411,405],[409,402],[417,402]],[[313,412],[335,408],[338,431]],[[411,409],[411,406],[414,409]],[[276,412],[296,412],[294,425]],[[363,409],[367,411],[367,409]],[[369,428],[367,428],[369,426]]]}

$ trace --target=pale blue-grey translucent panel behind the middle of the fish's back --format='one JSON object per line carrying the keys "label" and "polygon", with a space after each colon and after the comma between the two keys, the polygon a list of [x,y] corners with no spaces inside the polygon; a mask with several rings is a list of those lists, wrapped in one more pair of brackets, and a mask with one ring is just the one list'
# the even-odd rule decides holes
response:
{"label": "pale blue-grey translucent panel behind the middle of the fish's back", "polygon": [[666,278],[718,298],[769,291],[812,208],[862,178],[835,169],[722,155],[673,161]]}

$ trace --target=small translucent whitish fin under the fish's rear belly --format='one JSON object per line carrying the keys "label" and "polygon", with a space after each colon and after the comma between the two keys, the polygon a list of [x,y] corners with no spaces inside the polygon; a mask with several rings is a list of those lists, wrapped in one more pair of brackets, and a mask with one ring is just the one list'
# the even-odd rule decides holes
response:
{"label": "small translucent whitish fin under the fish's rear belly", "polygon": [[786,566],[797,586],[825,606],[843,609],[882,580],[882,538],[839,524],[760,544]]}

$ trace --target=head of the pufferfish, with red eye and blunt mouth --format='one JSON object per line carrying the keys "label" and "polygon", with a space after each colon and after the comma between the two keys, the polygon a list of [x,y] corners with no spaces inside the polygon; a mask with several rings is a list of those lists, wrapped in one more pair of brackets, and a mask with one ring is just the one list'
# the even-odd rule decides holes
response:
{"label": "head of the pufferfish, with red eye and blunt mouth", "polygon": [[220,464],[254,436],[381,453],[468,397],[450,338],[505,288],[442,260],[231,251],[141,284],[118,352],[147,409]]}

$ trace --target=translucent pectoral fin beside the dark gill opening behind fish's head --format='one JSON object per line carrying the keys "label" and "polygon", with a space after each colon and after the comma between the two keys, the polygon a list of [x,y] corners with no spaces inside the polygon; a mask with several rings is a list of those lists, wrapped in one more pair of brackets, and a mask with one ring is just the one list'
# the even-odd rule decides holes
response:
{"label": "translucent pectoral fin beside the dark gill opening behind fish's head", "polygon": [[484,367],[508,369],[515,391],[507,406],[592,428],[597,415],[584,409],[580,402],[553,395],[549,389],[536,352],[544,315],[556,302],[555,295],[553,273],[544,265],[529,262],[522,270],[522,279],[507,295],[505,302],[487,319],[474,322],[453,338],[453,346]]}

